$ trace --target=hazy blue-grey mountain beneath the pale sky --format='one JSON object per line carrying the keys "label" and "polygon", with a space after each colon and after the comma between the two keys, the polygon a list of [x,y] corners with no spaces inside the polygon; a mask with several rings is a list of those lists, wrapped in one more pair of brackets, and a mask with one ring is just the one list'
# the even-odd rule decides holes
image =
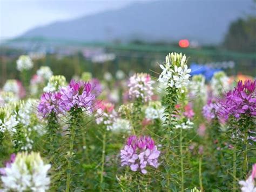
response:
{"label": "hazy blue-grey mountain beneath the pale sky", "polygon": [[252,13],[252,6],[252,0],[136,2],[122,9],[37,27],[21,37],[86,42],[171,42],[187,38],[201,44],[218,44],[230,23]]}

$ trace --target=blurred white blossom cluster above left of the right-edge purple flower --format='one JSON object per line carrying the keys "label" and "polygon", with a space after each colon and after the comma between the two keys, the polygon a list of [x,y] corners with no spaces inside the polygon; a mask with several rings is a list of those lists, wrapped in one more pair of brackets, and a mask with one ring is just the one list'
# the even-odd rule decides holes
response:
{"label": "blurred white blossom cluster above left of the right-edge purple flower", "polygon": [[215,97],[224,95],[231,89],[230,83],[228,83],[228,76],[224,72],[214,73],[211,80],[212,94]]}

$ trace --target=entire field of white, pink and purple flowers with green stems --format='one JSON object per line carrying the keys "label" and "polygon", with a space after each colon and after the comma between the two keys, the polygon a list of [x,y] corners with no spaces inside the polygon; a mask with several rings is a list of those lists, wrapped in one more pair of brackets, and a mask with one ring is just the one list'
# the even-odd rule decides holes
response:
{"label": "entire field of white, pink and purple flowers with green stems", "polygon": [[66,81],[29,56],[0,89],[0,191],[256,192],[256,81],[161,73]]}

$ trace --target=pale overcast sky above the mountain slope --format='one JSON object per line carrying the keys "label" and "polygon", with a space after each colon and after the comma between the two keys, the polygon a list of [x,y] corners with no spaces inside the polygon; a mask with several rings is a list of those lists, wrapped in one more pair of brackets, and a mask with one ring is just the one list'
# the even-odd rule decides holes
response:
{"label": "pale overcast sky above the mountain slope", "polygon": [[118,9],[134,1],[150,0],[0,0],[0,39],[58,20]]}

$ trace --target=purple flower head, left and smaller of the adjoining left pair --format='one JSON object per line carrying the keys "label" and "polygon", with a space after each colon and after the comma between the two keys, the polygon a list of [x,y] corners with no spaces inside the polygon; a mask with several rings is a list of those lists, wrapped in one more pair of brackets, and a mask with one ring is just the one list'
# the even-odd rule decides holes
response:
{"label": "purple flower head, left and smaller of the adjoining left pair", "polygon": [[64,111],[63,104],[61,101],[62,94],[56,93],[44,93],[41,96],[41,102],[38,105],[38,112],[43,117],[49,116],[52,112],[58,114]]}

